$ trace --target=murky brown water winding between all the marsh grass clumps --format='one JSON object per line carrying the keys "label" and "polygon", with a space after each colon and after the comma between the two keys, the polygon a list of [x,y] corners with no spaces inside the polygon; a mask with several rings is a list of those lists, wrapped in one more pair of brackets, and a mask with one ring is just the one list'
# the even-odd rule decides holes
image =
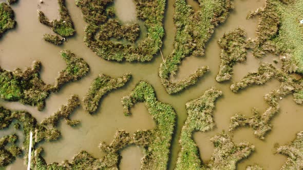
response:
{"label": "murky brown water winding between all the marsh grass clumps", "polygon": [[[17,102],[5,102],[0,100],[1,104],[12,110],[27,110],[38,121],[48,117],[66,103],[70,95],[78,94],[83,99],[87,92],[90,82],[104,73],[112,77],[118,77],[125,72],[132,73],[133,77],[127,86],[119,90],[113,91],[104,96],[100,104],[100,108],[96,114],[87,114],[82,107],[77,109],[72,115],[72,119],[80,119],[81,125],[77,128],[70,128],[64,121],[59,123],[59,129],[62,132],[62,138],[55,142],[41,143],[44,147],[44,158],[48,163],[53,161],[62,162],[70,160],[74,154],[81,150],[91,153],[94,157],[100,158],[105,153],[99,150],[98,145],[101,141],[110,143],[117,130],[124,129],[129,133],[141,129],[153,129],[156,124],[147,112],[143,103],[136,104],[131,109],[131,116],[123,115],[121,98],[128,95],[134,89],[136,83],[140,80],[146,80],[152,84],[156,90],[157,98],[162,102],[172,104],[178,115],[176,135],[174,136],[172,146],[172,156],[169,162],[169,169],[173,169],[177,160],[177,154],[180,150],[178,138],[182,125],[186,119],[185,103],[188,100],[197,98],[210,87],[217,87],[223,91],[223,97],[218,99],[214,118],[217,128],[212,132],[195,133],[194,139],[199,146],[201,158],[204,162],[210,160],[213,153],[213,144],[209,139],[222,132],[228,131],[230,117],[237,112],[245,115],[251,114],[251,109],[256,107],[260,112],[267,108],[262,96],[270,90],[277,89],[279,83],[272,80],[265,86],[249,87],[246,90],[234,94],[229,89],[231,82],[240,80],[248,72],[256,71],[260,62],[273,62],[276,56],[268,55],[261,60],[252,57],[248,53],[247,61],[238,63],[234,67],[233,79],[225,83],[217,83],[215,76],[218,73],[220,65],[220,49],[217,40],[223,33],[231,31],[238,26],[247,30],[248,37],[254,38],[257,25],[257,18],[246,20],[247,13],[263,6],[264,1],[235,0],[235,10],[224,24],[219,26],[215,31],[212,39],[206,47],[205,56],[202,58],[188,57],[182,61],[182,65],[176,77],[172,80],[184,78],[194,72],[200,66],[210,66],[211,72],[206,74],[196,86],[188,88],[188,90],[177,94],[168,95],[161,86],[158,77],[159,65],[162,62],[160,56],[157,56],[149,63],[128,63],[128,62],[111,62],[96,56],[89,50],[84,42],[84,28],[86,23],[83,21],[81,10],[74,5],[73,1],[67,1],[67,8],[70,11],[77,34],[74,37],[67,38],[65,45],[61,47],[54,46],[42,39],[44,33],[51,33],[50,28],[40,24],[37,20],[36,10],[42,10],[49,19],[58,18],[58,5],[54,0],[45,0],[44,4],[39,1],[20,1],[12,8],[15,11],[15,19],[17,28],[8,31],[0,39],[0,65],[7,70],[15,68],[24,69],[29,67],[34,60],[40,60],[43,64],[41,77],[46,83],[53,84],[58,72],[65,68],[65,62],[61,59],[59,52],[62,49],[68,49],[83,57],[90,66],[89,74],[77,82],[68,83],[59,93],[51,94],[46,100],[46,108],[39,112],[35,107],[29,107]],[[117,17],[121,22],[132,22],[134,17],[134,4],[131,0],[116,0],[114,7]],[[128,7],[129,4],[132,4]],[[174,0],[168,0],[164,20],[164,47],[163,55],[169,55],[173,50],[174,36],[176,28],[173,23]],[[188,0],[188,4],[192,5],[195,10],[199,9],[198,3],[194,0]],[[280,67],[277,65],[277,67]],[[253,136],[251,129],[239,129],[233,135],[235,142],[242,140],[249,141],[256,146],[256,151],[249,157],[238,164],[238,169],[244,169],[247,165],[258,163],[265,169],[278,169],[286,160],[285,156],[274,154],[274,145],[276,143],[285,144],[295,137],[295,133],[303,130],[300,126],[300,120],[303,114],[299,111],[302,107],[294,104],[292,97],[288,96],[280,102],[280,113],[273,118],[273,131],[270,132],[266,140],[261,141]],[[12,127],[9,130],[1,131],[0,136],[15,132]],[[21,139],[22,142],[23,139]],[[20,142],[20,143],[21,143]],[[122,159],[120,163],[121,169],[139,169],[140,159],[143,156],[142,149],[137,146],[130,146],[121,151]],[[24,169],[22,159],[17,159],[14,164],[7,169]]]}

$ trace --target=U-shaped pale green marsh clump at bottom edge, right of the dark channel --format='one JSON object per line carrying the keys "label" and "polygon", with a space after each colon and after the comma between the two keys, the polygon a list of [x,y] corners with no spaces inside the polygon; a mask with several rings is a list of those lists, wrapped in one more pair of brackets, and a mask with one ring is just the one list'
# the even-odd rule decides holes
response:
{"label": "U-shaped pale green marsh clump at bottom edge, right of the dark channel", "polygon": [[214,128],[213,109],[215,100],[222,95],[217,89],[210,89],[192,101],[186,103],[188,117],[181,130],[181,151],[178,155],[176,169],[236,169],[236,163],[247,158],[254,151],[254,146],[248,142],[235,144],[226,133],[211,138],[215,150],[211,161],[202,164],[198,147],[193,140],[196,131],[206,132]]}

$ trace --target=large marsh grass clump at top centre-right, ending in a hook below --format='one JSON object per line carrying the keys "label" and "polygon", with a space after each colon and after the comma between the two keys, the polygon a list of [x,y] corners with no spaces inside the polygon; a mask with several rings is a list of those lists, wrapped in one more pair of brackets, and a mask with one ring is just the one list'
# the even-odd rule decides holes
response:
{"label": "large marsh grass clump at top centre-right, ending in a hook below", "polygon": [[225,21],[233,8],[231,1],[199,0],[200,11],[194,12],[185,0],[175,2],[174,23],[177,33],[174,51],[165,57],[161,63],[159,76],[168,94],[178,93],[195,84],[198,78],[209,71],[208,67],[201,67],[195,73],[178,82],[169,81],[169,76],[175,75],[184,57],[204,56],[207,41],[211,38],[215,28]]}

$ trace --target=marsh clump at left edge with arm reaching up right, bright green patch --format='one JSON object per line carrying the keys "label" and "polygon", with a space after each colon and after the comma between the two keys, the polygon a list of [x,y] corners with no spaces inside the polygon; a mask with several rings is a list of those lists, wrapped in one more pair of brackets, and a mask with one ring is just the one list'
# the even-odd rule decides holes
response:
{"label": "marsh clump at left edge with arm reaching up right, bright green patch", "polygon": [[23,104],[37,106],[39,111],[43,110],[45,99],[51,92],[58,91],[69,81],[80,79],[89,71],[87,63],[70,51],[62,51],[61,56],[67,67],[60,72],[55,86],[45,84],[41,80],[39,61],[34,61],[33,66],[25,71],[16,69],[11,72],[0,68],[0,97],[7,101],[20,101]]}

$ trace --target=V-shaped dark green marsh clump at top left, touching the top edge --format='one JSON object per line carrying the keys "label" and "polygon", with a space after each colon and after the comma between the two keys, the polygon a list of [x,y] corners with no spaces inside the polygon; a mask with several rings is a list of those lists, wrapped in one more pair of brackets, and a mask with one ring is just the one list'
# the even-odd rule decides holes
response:
{"label": "V-shaped dark green marsh clump at top left, touching the top edge", "polygon": [[39,11],[38,12],[39,21],[40,23],[51,27],[53,32],[63,37],[72,36],[75,33],[75,30],[73,28],[71,17],[65,6],[65,0],[58,0],[58,5],[59,5],[60,20],[50,21],[42,11]]}

